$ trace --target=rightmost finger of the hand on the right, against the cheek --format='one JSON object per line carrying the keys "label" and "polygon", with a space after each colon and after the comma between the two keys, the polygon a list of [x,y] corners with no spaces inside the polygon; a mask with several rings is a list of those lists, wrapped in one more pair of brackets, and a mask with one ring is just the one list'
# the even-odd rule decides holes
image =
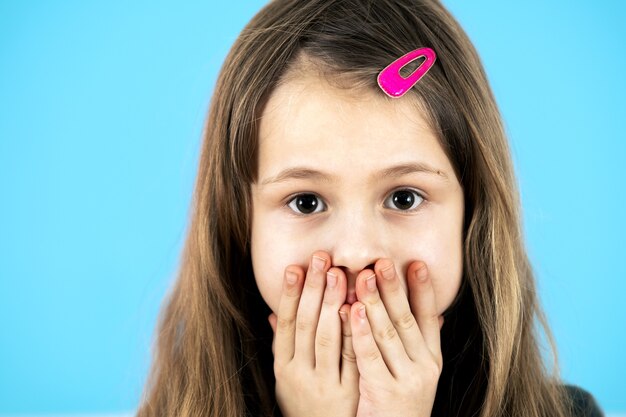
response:
{"label": "rightmost finger of the hand on the right, against the cheek", "polygon": [[440,325],[435,291],[428,276],[428,268],[423,262],[409,266],[408,287],[411,311],[417,320],[428,350],[441,356]]}

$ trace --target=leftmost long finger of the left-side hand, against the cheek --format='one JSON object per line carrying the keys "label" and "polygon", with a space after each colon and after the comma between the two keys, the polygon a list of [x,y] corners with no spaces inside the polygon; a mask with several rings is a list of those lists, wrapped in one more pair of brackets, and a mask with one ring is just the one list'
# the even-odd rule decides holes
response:
{"label": "leftmost long finger of the left-side hand, against the cheek", "polygon": [[300,302],[302,275],[302,269],[298,266],[290,265],[285,268],[274,334],[274,361],[278,364],[285,364],[294,356],[296,313]]}

